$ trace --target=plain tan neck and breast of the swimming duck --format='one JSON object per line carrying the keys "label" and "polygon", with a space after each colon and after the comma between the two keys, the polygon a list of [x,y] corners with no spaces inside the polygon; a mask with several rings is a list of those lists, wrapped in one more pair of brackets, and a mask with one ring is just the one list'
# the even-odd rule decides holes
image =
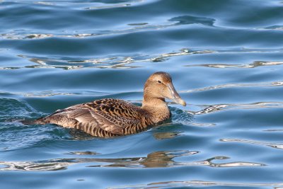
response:
{"label": "plain tan neck and breast of the swimming duck", "polygon": [[144,96],[141,108],[149,113],[149,120],[158,123],[170,118],[170,110],[164,98]]}

